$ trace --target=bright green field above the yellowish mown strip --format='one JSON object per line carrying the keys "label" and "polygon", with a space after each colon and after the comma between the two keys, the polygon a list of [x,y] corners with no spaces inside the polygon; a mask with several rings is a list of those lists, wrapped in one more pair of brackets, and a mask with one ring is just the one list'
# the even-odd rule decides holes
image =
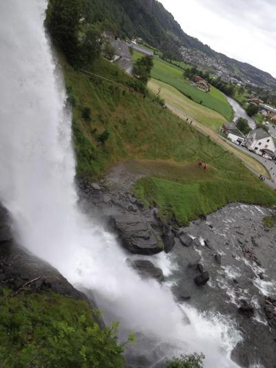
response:
{"label": "bright green field above the yellowish mown strip", "polygon": [[[141,57],[139,52],[133,52],[134,60],[139,59],[139,57]],[[211,86],[210,93],[204,93],[195,88],[183,78],[183,70],[181,68],[155,57],[151,77],[170,84],[170,86],[177,88],[177,90],[193,99],[193,101],[217,111],[217,113],[223,115],[229,121],[233,119],[233,108],[219,90]]]}

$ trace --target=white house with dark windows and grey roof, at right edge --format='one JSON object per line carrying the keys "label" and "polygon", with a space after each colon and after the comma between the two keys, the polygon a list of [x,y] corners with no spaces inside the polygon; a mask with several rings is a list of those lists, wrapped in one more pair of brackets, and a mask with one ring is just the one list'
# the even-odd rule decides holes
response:
{"label": "white house with dark windows and grey roof, at right edge", "polygon": [[262,128],[251,130],[244,142],[250,151],[259,155],[262,155],[262,150],[276,151],[275,140]]}

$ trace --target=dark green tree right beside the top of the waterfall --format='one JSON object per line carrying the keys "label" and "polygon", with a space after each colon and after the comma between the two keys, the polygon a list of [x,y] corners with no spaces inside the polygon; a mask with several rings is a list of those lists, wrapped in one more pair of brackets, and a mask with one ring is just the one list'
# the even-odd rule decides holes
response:
{"label": "dark green tree right beside the top of the waterfall", "polygon": [[50,0],[46,12],[46,28],[71,64],[77,63],[79,53],[81,6],[81,0]]}

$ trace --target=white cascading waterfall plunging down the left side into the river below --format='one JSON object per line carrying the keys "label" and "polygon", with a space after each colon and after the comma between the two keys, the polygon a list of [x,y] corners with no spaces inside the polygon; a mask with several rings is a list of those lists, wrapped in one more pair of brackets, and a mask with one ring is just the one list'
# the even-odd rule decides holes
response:
{"label": "white cascading waterfall plunging down the left side into the river below", "polygon": [[123,331],[164,346],[165,356],[202,351],[207,368],[237,367],[229,358],[235,330],[180,307],[168,287],[141,280],[113,236],[77,209],[71,117],[43,28],[46,6],[0,3],[0,201],[14,233],[72,284],[95,291],[104,316]]}

